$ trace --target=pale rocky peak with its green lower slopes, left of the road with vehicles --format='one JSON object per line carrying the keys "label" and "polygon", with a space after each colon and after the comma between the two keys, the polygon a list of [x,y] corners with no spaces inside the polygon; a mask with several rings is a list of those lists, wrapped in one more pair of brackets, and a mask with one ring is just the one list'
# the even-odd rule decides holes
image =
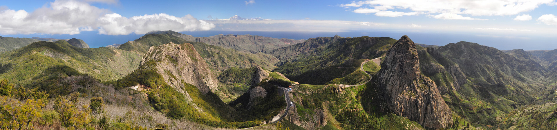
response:
{"label": "pale rocky peak with its green lower slopes, left of the road with vehicles", "polygon": [[[284,97],[280,97],[282,94],[271,84],[260,84],[260,91],[266,95],[258,96],[260,103],[252,104],[251,109],[242,107],[242,104],[225,104],[212,92],[221,89],[217,87],[216,76],[189,43],[151,47],[139,68],[119,79],[115,85],[146,93],[153,108],[170,118],[188,119],[213,127],[253,127],[270,120],[282,105],[286,105]],[[247,101],[242,99],[237,102]]]}

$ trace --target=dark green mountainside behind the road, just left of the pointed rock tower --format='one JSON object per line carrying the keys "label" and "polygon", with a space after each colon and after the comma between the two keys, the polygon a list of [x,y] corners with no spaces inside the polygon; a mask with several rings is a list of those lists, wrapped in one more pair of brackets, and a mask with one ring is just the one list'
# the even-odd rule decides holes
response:
{"label": "dark green mountainside behind the road, just left of the pointed rock tower", "polygon": [[[375,42],[371,44],[370,40]],[[292,81],[302,84],[325,84],[357,71],[363,59],[381,57],[394,42],[395,39],[388,37],[312,38],[304,43],[273,50],[271,54],[281,58],[281,62],[277,63],[280,67],[273,71],[281,72]],[[334,82],[339,82],[339,79]]]}

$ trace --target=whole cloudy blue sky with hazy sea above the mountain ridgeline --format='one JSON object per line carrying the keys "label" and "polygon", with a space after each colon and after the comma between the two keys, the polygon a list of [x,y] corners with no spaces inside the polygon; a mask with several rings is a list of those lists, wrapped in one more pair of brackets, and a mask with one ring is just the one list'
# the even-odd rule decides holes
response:
{"label": "whole cloudy blue sky with hazy sea above the mountain ridgeline", "polygon": [[[228,19],[236,15],[247,19]],[[290,39],[407,35],[439,46],[467,41],[551,50],[557,48],[555,15],[555,0],[19,0],[0,3],[0,36],[77,38],[102,47],[159,30]]]}

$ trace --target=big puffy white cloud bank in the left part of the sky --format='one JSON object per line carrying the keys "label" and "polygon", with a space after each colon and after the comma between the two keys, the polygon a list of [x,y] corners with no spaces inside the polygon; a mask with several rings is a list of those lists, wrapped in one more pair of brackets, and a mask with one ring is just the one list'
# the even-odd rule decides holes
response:
{"label": "big puffy white cloud bank in the left part of the sky", "polygon": [[[89,1],[92,2],[92,1]],[[111,2],[111,1],[95,1]],[[113,1],[117,2],[117,1]],[[0,10],[0,34],[79,34],[99,30],[100,34],[143,34],[153,30],[200,31],[214,24],[192,16],[152,14],[126,18],[86,1],[57,0],[33,12]]]}

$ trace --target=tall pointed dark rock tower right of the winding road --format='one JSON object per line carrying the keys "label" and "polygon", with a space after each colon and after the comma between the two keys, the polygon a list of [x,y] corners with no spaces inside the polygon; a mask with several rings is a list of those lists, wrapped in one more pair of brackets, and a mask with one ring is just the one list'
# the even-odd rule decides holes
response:
{"label": "tall pointed dark rock tower right of the winding road", "polygon": [[411,39],[403,36],[394,43],[381,66],[373,81],[383,93],[383,111],[408,117],[428,128],[451,126],[451,110],[436,84],[421,73],[416,45]]}

